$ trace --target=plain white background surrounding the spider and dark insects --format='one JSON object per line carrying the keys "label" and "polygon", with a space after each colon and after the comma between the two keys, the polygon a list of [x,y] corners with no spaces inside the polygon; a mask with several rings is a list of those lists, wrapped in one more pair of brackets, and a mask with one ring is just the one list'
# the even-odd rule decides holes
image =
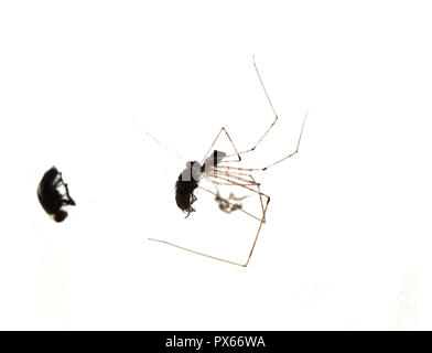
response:
{"label": "plain white background surrounding the spider and dark insects", "polygon": [[[432,329],[431,33],[428,1],[2,1],[0,329]],[[222,126],[251,147],[273,118],[252,54],[280,120],[249,165],[310,115],[257,175],[241,268],[148,240],[212,225],[141,127],[187,160]]]}

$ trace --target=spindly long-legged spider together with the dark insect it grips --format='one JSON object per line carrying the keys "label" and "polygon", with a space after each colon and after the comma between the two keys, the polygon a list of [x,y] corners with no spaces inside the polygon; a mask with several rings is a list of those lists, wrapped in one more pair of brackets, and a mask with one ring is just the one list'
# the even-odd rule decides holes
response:
{"label": "spindly long-legged spider together with the dark insect it grips", "polygon": [[[233,139],[230,138],[227,129],[225,127],[223,127],[219,130],[219,132],[217,133],[215,140],[213,141],[212,146],[209,147],[209,149],[208,149],[207,153],[205,154],[205,157],[203,158],[203,160],[201,162],[198,162],[198,161],[186,162],[186,168],[179,175],[177,181],[175,183],[175,201],[176,201],[179,208],[186,213],[186,218],[191,215],[191,213],[195,212],[195,208],[193,207],[193,203],[197,200],[197,197],[194,192],[197,188],[199,188],[199,189],[202,189],[202,190],[204,190],[215,196],[215,201],[218,203],[219,208],[222,211],[224,211],[226,213],[231,213],[231,212],[237,212],[237,211],[242,212],[259,222],[258,229],[257,229],[253,243],[251,245],[251,248],[249,250],[249,255],[247,257],[247,260],[245,263],[236,263],[236,261],[231,261],[231,260],[224,259],[220,257],[199,253],[199,252],[196,252],[196,250],[193,250],[193,249],[190,249],[190,248],[186,248],[186,247],[183,247],[183,246],[180,246],[180,245],[166,242],[166,240],[149,238],[150,240],[168,244],[168,245],[177,247],[180,249],[183,249],[183,250],[186,250],[190,253],[202,255],[202,256],[205,256],[205,257],[208,257],[212,259],[216,259],[216,260],[219,260],[223,263],[228,263],[231,265],[237,265],[237,266],[242,266],[242,267],[247,267],[249,265],[250,258],[252,256],[253,249],[255,249],[257,240],[258,240],[258,236],[259,236],[261,228],[262,228],[262,224],[266,223],[266,213],[267,213],[267,208],[270,203],[270,196],[264,194],[263,192],[261,192],[260,183],[255,180],[255,178],[252,176],[252,173],[255,171],[266,171],[270,167],[273,167],[273,165],[284,161],[284,160],[295,156],[299,152],[299,147],[300,147],[300,142],[302,139],[303,129],[304,129],[304,124],[305,124],[305,120],[307,117],[307,114],[305,114],[304,118],[303,118],[302,127],[300,130],[296,148],[293,152],[289,153],[288,156],[281,158],[281,159],[279,159],[279,160],[277,160],[277,161],[274,161],[263,168],[240,168],[240,167],[237,167],[238,164],[233,164],[236,162],[237,163],[240,162],[241,156],[255,151],[256,148],[261,143],[261,141],[264,139],[264,137],[269,133],[269,131],[273,128],[273,126],[276,125],[276,122],[279,119],[278,114],[276,113],[274,107],[271,103],[270,96],[267,93],[267,89],[266,89],[264,84],[262,82],[261,75],[258,71],[258,67],[257,67],[257,64],[255,61],[255,56],[253,56],[253,67],[257,73],[257,76],[259,78],[260,85],[266,94],[266,97],[267,97],[267,100],[270,105],[270,108],[274,115],[274,119],[271,122],[270,127],[264,131],[264,133],[253,145],[253,147],[251,147],[245,151],[240,151],[240,152],[237,150],[236,146],[234,145]],[[144,132],[150,138],[152,138],[154,141],[162,145],[159,140],[156,140],[154,137],[152,137],[149,132],[147,132],[147,131],[144,131]],[[229,143],[233,146],[235,153],[227,154],[223,151],[218,151],[218,150],[214,149],[215,143],[217,142],[219,137],[223,135],[225,135],[228,138]],[[166,147],[164,147],[164,148],[168,149]],[[179,156],[176,154],[176,157],[179,157]],[[216,185],[216,188],[217,188],[217,185],[231,185],[231,186],[241,188],[244,190],[247,190],[251,193],[257,194],[260,200],[260,213],[261,214],[253,215],[252,213],[244,210],[242,204],[241,204],[241,200],[245,197],[237,197],[231,193],[228,199],[224,199],[220,196],[218,190],[215,193],[208,189],[201,186],[199,182],[203,179],[209,180],[214,185]]]}

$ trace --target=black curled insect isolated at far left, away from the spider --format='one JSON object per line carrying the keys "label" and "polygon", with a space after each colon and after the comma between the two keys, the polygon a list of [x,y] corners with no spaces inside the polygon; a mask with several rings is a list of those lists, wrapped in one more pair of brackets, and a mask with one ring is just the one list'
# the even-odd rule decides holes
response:
{"label": "black curled insect isolated at far left, away from the spider", "polygon": [[[58,189],[65,189],[62,194]],[[62,173],[55,168],[51,168],[42,176],[37,186],[37,199],[45,212],[53,216],[55,222],[63,222],[67,217],[64,206],[75,206],[75,201],[69,195],[67,184],[62,179]]]}

